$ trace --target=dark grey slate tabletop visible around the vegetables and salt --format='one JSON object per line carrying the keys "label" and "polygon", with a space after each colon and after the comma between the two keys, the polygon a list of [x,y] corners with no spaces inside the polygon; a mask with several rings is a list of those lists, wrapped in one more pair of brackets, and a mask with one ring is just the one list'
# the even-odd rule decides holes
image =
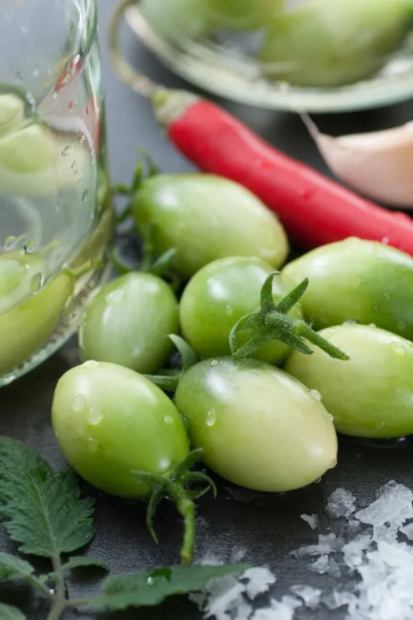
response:
{"label": "dark grey slate tabletop visible around the vegetables and salt", "polygon": [[[127,87],[118,83],[109,67],[105,27],[112,10],[112,0],[100,0],[100,37],[105,67],[105,89],[109,130],[109,153],[112,176],[127,182],[136,161],[136,147],[147,147],[156,163],[168,172],[190,169],[173,147],[167,143],[151,114],[151,106]],[[176,79],[153,59],[134,36],[125,28],[125,49],[137,68],[153,79],[173,87],[184,83]],[[242,105],[229,105],[255,131],[266,136],[296,158],[310,163],[326,172],[314,145],[299,118],[288,114],[275,114]],[[374,130],[410,120],[413,106],[405,103],[385,110],[348,114],[345,116],[322,116],[317,123],[324,131],[341,134],[353,131]],[[50,427],[50,404],[54,386],[59,377],[76,364],[76,339],[29,376],[15,382],[0,393],[0,433],[19,438],[50,459],[56,467],[64,466]],[[362,502],[373,499],[374,490],[390,479],[411,484],[412,447],[401,442],[392,448],[366,446],[341,440],[339,466],[324,477],[321,483],[284,495],[254,495],[241,489],[231,488],[222,482],[216,502],[204,499],[198,515],[202,524],[198,533],[198,553],[216,551],[229,557],[234,547],[247,549],[246,560],[252,564],[270,564],[277,576],[275,593],[286,593],[289,586],[308,583],[313,586],[335,587],[337,581],[325,575],[308,571],[308,559],[297,560],[291,550],[317,541],[308,525],[300,519],[302,513],[318,513],[321,531],[328,533],[332,523],[324,513],[326,497],[338,486],[351,490]],[[145,528],[145,507],[127,504],[103,494],[96,493],[87,485],[85,493],[93,495],[96,503],[96,537],[88,552],[103,557],[114,572],[136,570],[173,564],[178,561],[180,544],[180,521],[169,504],[165,504],[156,519],[160,545],[153,544]],[[14,546],[0,533],[0,550],[13,550]],[[45,564],[39,570],[46,570]],[[72,581],[72,596],[85,596],[96,590],[98,579]],[[26,588],[4,588],[0,584],[0,600],[14,604],[24,601],[29,620],[44,620],[47,607],[30,597]],[[83,613],[68,612],[65,620],[76,620]],[[85,615],[85,617],[87,617]],[[169,601],[162,609],[143,610],[116,615],[116,620],[139,617],[141,620],[198,620],[200,613],[187,601]],[[114,616],[111,616],[113,619]],[[315,612],[299,610],[297,618],[328,620],[343,618],[343,611],[328,613],[326,609]]]}

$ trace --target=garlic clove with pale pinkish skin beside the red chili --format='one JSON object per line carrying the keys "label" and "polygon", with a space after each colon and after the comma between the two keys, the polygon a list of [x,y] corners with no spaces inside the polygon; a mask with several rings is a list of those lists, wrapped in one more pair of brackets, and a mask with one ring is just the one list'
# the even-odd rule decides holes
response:
{"label": "garlic clove with pale pinkish skin beside the red chili", "polygon": [[302,118],[337,178],[379,203],[413,208],[413,123],[334,138]]}

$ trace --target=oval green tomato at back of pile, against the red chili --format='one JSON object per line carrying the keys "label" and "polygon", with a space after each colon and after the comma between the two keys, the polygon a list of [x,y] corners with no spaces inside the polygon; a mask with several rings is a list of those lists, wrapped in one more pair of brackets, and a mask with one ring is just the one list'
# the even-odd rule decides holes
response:
{"label": "oval green tomato at back of pile, against the red chili", "polygon": [[173,266],[185,278],[226,256],[257,256],[277,269],[288,254],[277,218],[247,189],[218,176],[153,176],[136,194],[134,218],[158,254],[178,250]]}

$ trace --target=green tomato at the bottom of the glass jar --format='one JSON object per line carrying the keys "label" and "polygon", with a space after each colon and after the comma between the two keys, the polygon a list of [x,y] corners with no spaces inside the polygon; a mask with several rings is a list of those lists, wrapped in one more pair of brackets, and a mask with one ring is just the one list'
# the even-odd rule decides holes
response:
{"label": "green tomato at the bottom of the glass jar", "polygon": [[0,256],[0,375],[36,353],[56,327],[72,295],[71,276],[61,273],[41,288],[44,273],[41,254],[15,252]]}

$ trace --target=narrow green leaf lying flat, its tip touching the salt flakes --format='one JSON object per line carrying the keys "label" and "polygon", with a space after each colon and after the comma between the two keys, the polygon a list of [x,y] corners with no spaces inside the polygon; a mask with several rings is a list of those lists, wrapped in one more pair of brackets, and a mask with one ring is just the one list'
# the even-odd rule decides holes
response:
{"label": "narrow green leaf lying flat, its tip touching the salt flakes", "polygon": [[248,565],[173,566],[155,571],[141,570],[129,575],[107,577],[105,595],[90,601],[94,609],[123,610],[128,607],[155,606],[167,597],[198,592],[211,579],[244,572]]}

